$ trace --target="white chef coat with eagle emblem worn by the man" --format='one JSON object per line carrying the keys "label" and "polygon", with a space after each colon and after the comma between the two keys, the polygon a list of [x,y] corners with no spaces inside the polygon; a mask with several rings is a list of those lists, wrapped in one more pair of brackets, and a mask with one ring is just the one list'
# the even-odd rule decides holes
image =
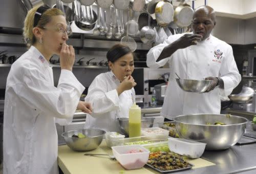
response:
{"label": "white chef coat with eagle emblem worn by the man", "polygon": [[[232,48],[226,42],[210,35],[195,46],[177,50],[172,56],[156,62],[165,46],[183,34],[169,36],[163,44],[147,53],[147,66],[159,68],[169,62],[170,76],[164,97],[161,115],[173,119],[183,114],[220,114],[220,96],[228,96],[241,81]],[[206,77],[220,77],[224,89],[215,88],[208,93],[182,91],[177,82],[177,73],[182,79],[203,80]]]}

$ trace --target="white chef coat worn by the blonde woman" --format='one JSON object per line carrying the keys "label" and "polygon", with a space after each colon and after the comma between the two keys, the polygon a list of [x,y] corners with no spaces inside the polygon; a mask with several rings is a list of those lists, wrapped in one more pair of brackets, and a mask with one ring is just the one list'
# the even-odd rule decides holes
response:
{"label": "white chef coat worn by the blonde woman", "polygon": [[61,70],[57,88],[49,62],[31,47],[12,64],[4,110],[4,174],[58,173],[55,118],[72,120],[84,87]]}

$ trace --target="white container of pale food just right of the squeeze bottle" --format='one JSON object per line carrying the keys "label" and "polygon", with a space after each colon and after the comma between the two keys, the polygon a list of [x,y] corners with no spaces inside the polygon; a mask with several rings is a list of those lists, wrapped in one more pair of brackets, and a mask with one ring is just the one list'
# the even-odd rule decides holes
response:
{"label": "white container of pale food just right of the squeeze bottle", "polygon": [[168,138],[169,131],[160,127],[150,127],[141,129],[142,136],[150,136],[156,139],[158,135],[164,136],[166,139]]}

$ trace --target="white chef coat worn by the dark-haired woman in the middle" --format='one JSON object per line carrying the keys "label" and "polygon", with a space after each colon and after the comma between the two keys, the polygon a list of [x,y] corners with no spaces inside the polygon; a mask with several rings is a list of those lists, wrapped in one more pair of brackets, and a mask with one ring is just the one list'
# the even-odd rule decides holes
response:
{"label": "white chef coat worn by the dark-haired woman in the middle", "polygon": [[135,91],[132,88],[118,96],[116,88],[119,84],[120,81],[112,71],[95,77],[84,99],[91,102],[93,107],[93,113],[87,114],[85,128],[121,133],[117,118],[129,117]]}

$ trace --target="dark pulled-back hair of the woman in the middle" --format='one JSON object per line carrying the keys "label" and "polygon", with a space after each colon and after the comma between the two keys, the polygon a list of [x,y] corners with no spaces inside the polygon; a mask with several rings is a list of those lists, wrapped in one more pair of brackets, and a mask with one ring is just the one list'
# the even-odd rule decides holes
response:
{"label": "dark pulled-back hair of the woman in the middle", "polygon": [[129,53],[132,53],[132,50],[129,47],[122,44],[116,44],[108,51],[108,53],[106,53],[106,58],[108,59],[108,61],[114,63],[120,57]]}

